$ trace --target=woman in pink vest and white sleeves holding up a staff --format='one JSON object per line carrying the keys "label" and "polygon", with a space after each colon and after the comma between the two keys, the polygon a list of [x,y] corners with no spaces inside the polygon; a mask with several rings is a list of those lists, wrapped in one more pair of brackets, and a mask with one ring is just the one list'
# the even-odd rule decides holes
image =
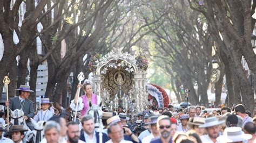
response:
{"label": "woman in pink vest and white sleeves holding up a staff", "polygon": [[[79,90],[83,87],[83,90],[85,94],[83,96],[79,96]],[[78,101],[77,101],[78,99]],[[89,107],[89,102],[92,104],[98,105],[101,102],[101,99],[98,95],[93,94],[92,92],[92,85],[89,80],[85,80],[83,84],[78,83],[77,85],[77,92],[75,95],[75,99],[71,101],[70,107],[72,110],[76,110],[76,104],[78,102],[78,111],[81,111],[81,115],[84,116],[87,112],[87,110],[90,108]]]}

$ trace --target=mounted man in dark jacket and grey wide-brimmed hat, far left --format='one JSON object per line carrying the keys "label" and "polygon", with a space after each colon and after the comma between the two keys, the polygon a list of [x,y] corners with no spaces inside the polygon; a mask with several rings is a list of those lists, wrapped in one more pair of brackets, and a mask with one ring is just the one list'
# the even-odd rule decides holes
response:
{"label": "mounted man in dark jacket and grey wide-brimmed hat, far left", "polygon": [[33,102],[28,99],[30,92],[33,92],[33,90],[30,90],[29,86],[21,85],[18,89],[19,96],[10,98],[10,102],[5,102],[5,105],[9,105],[9,109],[14,111],[15,109],[23,110],[24,112],[24,119],[26,120],[26,125],[30,127],[32,130],[32,123],[30,121],[30,118],[33,118],[34,116],[34,109],[33,109]]}

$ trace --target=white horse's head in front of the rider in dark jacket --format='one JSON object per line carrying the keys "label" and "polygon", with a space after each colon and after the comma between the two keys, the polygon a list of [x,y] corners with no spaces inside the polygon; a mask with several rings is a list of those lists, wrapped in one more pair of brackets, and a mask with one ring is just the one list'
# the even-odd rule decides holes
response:
{"label": "white horse's head in front of the rider in dark jacket", "polygon": [[24,124],[24,112],[19,109],[15,109],[14,111],[11,111],[11,124],[12,125],[23,125]]}

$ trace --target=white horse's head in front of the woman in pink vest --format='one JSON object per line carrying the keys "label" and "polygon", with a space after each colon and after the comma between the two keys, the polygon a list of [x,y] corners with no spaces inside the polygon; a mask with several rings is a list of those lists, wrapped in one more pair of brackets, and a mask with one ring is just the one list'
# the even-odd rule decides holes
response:
{"label": "white horse's head in front of the woman in pink vest", "polygon": [[[91,102],[89,102],[89,110],[87,111],[87,114],[91,115],[92,117],[94,117],[95,123],[96,123],[96,127],[98,126],[98,124],[100,123],[100,119],[102,119],[102,102],[100,102],[99,106],[96,104],[91,104]],[[98,123],[98,124],[97,124]]]}

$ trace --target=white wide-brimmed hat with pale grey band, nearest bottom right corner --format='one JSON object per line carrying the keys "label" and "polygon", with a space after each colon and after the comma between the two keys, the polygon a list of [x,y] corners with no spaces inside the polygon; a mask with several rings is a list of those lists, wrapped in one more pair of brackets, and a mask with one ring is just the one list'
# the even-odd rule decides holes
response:
{"label": "white wide-brimmed hat with pale grey band, nearest bottom right corner", "polygon": [[224,130],[224,134],[217,138],[220,142],[238,142],[251,139],[251,134],[245,134],[242,132],[241,127],[227,127]]}

